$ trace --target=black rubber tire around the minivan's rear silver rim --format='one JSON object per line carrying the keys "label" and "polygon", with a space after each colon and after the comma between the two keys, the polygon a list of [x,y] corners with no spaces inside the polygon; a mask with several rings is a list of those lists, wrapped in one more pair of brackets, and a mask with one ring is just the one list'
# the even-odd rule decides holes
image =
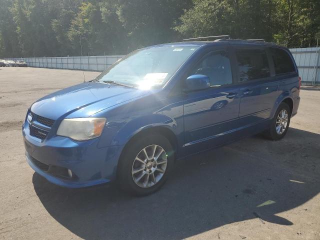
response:
{"label": "black rubber tire around the minivan's rear silver rim", "polygon": [[[288,114],[288,119],[287,119],[287,124],[286,124],[286,127],[284,129],[284,131],[280,134],[277,133],[276,129],[275,129],[275,125],[276,125],[276,120],[277,120],[277,117],[278,117],[278,114],[280,111],[282,110],[286,110],[287,111],[287,114]],[[286,134],[288,128],[289,128],[289,124],[290,124],[290,118],[291,118],[291,110],[290,110],[290,107],[288,104],[286,104],[285,102],[281,102],[278,109],[276,110],[273,118],[272,118],[272,121],[271,121],[271,124],[269,126],[269,129],[267,129],[264,133],[264,135],[271,139],[271,140],[280,140],[282,137],[284,137],[284,135]]]}

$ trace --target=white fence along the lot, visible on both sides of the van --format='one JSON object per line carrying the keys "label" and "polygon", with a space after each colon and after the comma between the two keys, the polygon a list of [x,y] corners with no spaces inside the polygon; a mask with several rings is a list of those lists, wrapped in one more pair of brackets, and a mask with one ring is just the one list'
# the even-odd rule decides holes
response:
{"label": "white fence along the lot, visible on both sides of the van", "polygon": [[[299,75],[304,84],[320,84],[320,47],[291,48],[290,51],[298,66]],[[23,59],[28,66],[59,69],[77,69],[89,71],[103,71],[123,55],[107,56],[69,56],[69,57],[26,57],[10,58]]]}

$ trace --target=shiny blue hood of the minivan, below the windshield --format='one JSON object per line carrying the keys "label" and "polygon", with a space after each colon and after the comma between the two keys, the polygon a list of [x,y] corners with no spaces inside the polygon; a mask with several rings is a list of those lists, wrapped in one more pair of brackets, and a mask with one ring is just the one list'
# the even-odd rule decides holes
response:
{"label": "shiny blue hood of the minivan, below the windshield", "polygon": [[61,116],[88,117],[146,92],[115,84],[84,82],[40,98],[32,104],[31,111],[53,120]]}

